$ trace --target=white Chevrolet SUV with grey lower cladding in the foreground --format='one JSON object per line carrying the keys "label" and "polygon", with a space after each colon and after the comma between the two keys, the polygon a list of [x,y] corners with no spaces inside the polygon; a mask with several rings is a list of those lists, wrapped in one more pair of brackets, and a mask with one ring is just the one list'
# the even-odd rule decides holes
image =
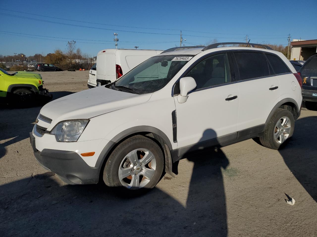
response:
{"label": "white Chevrolet SUV with grey lower cladding in the foreground", "polygon": [[197,149],[254,137],[278,149],[300,115],[300,76],[268,46],[223,44],[166,50],[48,103],[30,133],[36,159],[71,184],[139,189],[173,176],[172,163]]}

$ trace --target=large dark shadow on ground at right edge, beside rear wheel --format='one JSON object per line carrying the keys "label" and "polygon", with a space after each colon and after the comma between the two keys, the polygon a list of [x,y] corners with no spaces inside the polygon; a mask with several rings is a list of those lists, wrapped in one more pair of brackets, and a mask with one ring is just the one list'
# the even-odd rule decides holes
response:
{"label": "large dark shadow on ground at right edge, beside rear wheel", "polygon": [[293,137],[279,149],[289,170],[317,202],[317,116],[295,122]]}

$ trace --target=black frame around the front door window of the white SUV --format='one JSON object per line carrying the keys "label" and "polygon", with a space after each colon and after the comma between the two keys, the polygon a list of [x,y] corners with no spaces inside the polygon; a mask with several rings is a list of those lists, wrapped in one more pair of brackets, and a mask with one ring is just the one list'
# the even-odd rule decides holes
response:
{"label": "black frame around the front door window of the white SUV", "polygon": [[187,73],[189,73],[197,64],[199,64],[201,61],[204,61],[206,58],[209,58],[211,56],[217,55],[217,54],[224,54],[226,53],[228,56],[228,61],[229,61],[229,67],[230,67],[230,77],[231,80],[230,82],[224,83],[224,84],[219,84],[219,85],[215,85],[215,86],[210,86],[210,87],[204,87],[204,88],[200,88],[200,89],[194,89],[192,91],[190,91],[188,94],[192,93],[192,92],[196,92],[196,91],[201,91],[201,90],[206,90],[206,89],[210,89],[210,88],[215,88],[215,87],[219,87],[219,86],[224,86],[224,85],[230,85],[233,83],[236,83],[236,75],[235,75],[235,70],[233,69],[233,59],[232,59],[232,55],[230,53],[228,53],[228,51],[224,50],[224,51],[217,51],[217,52],[211,52],[208,53],[206,55],[204,55],[201,58],[198,58],[194,63],[191,64],[191,66],[189,68],[187,68],[184,73],[179,76],[179,78],[177,79],[177,81],[174,83],[173,87],[172,87],[172,93],[171,96],[174,97],[178,94],[174,94],[174,88],[175,85],[179,82],[179,80],[184,77]]}

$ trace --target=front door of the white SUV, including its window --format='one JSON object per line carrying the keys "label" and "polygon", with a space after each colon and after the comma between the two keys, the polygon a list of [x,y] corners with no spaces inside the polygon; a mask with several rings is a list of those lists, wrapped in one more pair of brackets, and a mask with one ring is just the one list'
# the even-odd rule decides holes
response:
{"label": "front door of the white SUV, including its window", "polygon": [[184,103],[174,96],[178,155],[236,138],[239,91],[229,61],[226,52],[207,56],[185,75],[197,87]]}

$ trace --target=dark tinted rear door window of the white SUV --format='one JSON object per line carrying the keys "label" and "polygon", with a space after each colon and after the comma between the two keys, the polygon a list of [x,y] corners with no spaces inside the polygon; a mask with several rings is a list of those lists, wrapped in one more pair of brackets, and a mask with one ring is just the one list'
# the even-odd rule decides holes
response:
{"label": "dark tinted rear door window of the white SUV", "polygon": [[234,52],[240,80],[269,76],[268,61],[262,52]]}

